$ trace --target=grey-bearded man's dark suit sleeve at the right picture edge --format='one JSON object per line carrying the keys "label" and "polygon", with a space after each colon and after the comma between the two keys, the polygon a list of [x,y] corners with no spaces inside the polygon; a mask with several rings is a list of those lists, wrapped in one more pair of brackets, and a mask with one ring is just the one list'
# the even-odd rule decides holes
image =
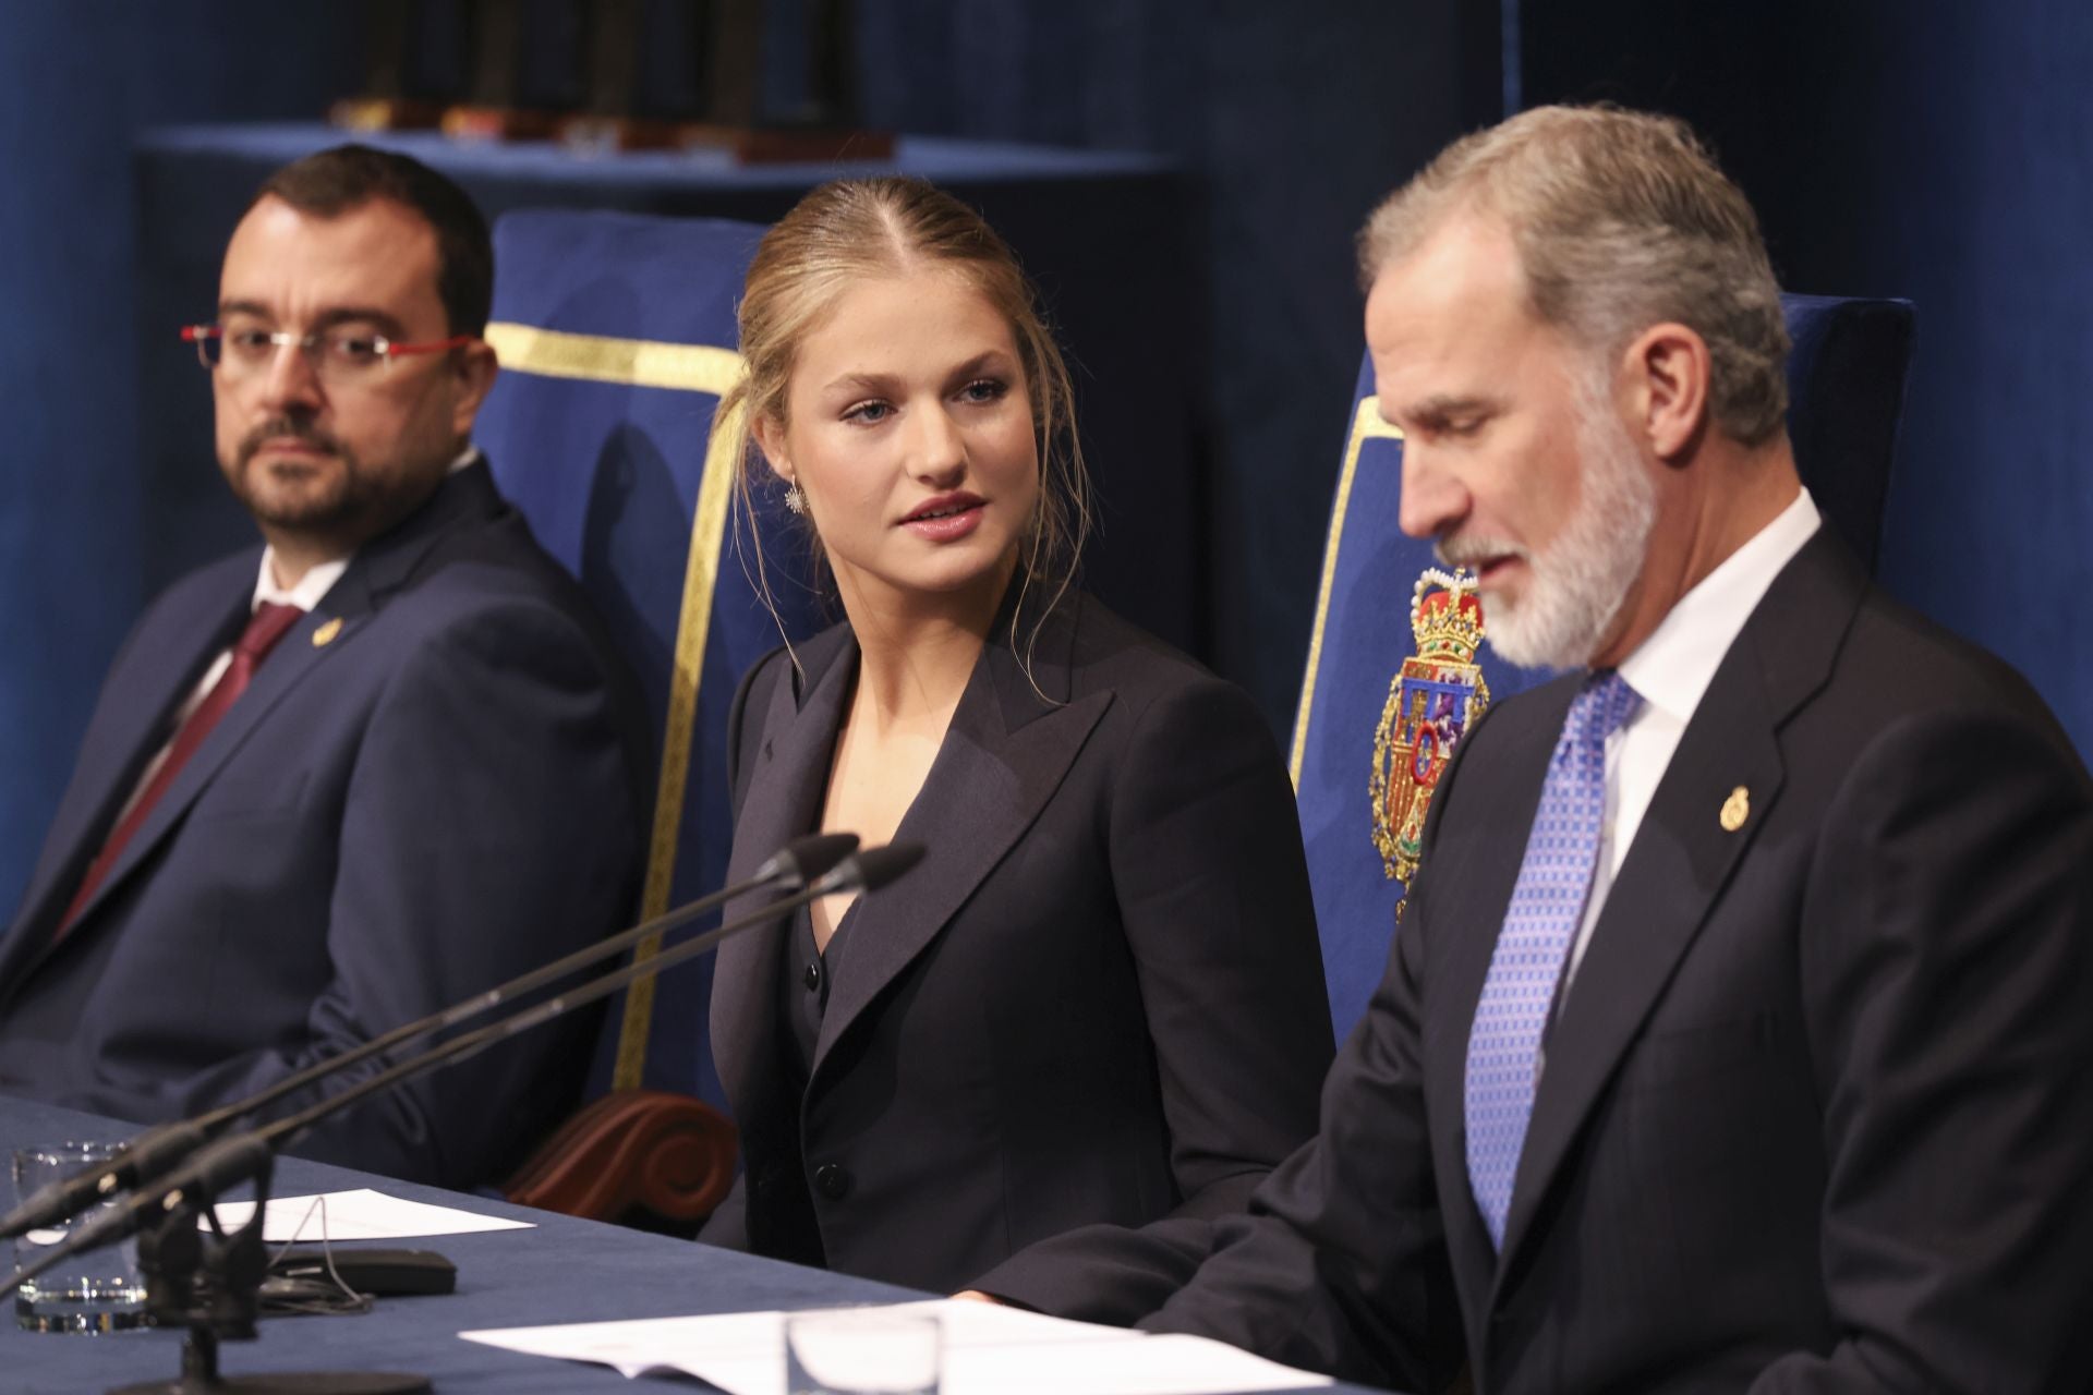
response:
{"label": "grey-bearded man's dark suit sleeve at the right picture edge", "polygon": [[1844,1339],[1752,1389],[2089,1389],[2085,774],[2026,719],[1907,717],[1823,837],[1800,947]]}

